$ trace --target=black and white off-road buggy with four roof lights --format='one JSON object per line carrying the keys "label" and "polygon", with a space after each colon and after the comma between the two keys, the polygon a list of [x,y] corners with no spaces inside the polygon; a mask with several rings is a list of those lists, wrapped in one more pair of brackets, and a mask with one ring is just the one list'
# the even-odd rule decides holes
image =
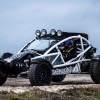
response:
{"label": "black and white off-road buggy with four roof lights", "polygon": [[43,29],[36,39],[26,44],[16,55],[0,60],[0,85],[7,77],[29,78],[31,85],[61,82],[67,74],[89,73],[100,83],[100,56],[85,33]]}

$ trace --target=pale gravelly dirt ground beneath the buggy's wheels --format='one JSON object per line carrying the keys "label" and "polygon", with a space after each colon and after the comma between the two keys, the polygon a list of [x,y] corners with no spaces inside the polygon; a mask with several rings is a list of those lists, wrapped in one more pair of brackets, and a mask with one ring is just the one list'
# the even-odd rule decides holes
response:
{"label": "pale gravelly dirt ground beneath the buggy's wheels", "polygon": [[28,79],[23,78],[8,78],[6,83],[0,87],[0,91],[13,91],[14,93],[23,93],[30,90],[40,89],[49,92],[59,92],[64,89],[72,88],[88,88],[100,87],[94,84],[88,74],[70,74],[66,75],[63,82],[51,83],[49,86],[31,86]]}

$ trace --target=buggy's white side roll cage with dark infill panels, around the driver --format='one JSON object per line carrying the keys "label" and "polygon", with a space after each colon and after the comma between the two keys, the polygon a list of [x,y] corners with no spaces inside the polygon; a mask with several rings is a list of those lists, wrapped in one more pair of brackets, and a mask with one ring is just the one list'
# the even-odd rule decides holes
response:
{"label": "buggy's white side roll cage with dark infill panels, around the driver", "polygon": [[[66,61],[64,59],[63,53],[59,49],[59,46],[67,40],[72,40],[74,43],[76,42],[76,50],[75,56]],[[53,68],[72,66],[76,64],[80,66],[80,63],[82,62],[91,61],[91,59],[85,58],[85,53],[88,52],[91,48],[92,45],[86,38],[82,37],[81,35],[71,36],[53,45],[43,55],[31,58],[31,62],[34,62],[35,59],[43,58],[48,60],[52,64]]]}

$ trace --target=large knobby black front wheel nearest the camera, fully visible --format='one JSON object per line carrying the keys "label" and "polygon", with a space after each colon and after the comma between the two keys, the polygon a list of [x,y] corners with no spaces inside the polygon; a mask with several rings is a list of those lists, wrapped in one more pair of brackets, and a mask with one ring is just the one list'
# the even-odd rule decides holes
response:
{"label": "large knobby black front wheel nearest the camera, fully visible", "polygon": [[29,81],[31,85],[49,85],[52,79],[51,66],[47,62],[32,64],[29,70]]}

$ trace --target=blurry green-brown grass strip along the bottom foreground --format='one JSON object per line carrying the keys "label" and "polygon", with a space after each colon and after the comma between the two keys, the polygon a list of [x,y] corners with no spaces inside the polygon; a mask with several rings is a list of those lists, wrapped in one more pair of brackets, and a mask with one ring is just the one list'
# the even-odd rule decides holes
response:
{"label": "blurry green-brown grass strip along the bottom foreground", "polygon": [[61,90],[58,93],[34,90],[15,94],[3,91],[0,100],[100,100],[100,88]]}

